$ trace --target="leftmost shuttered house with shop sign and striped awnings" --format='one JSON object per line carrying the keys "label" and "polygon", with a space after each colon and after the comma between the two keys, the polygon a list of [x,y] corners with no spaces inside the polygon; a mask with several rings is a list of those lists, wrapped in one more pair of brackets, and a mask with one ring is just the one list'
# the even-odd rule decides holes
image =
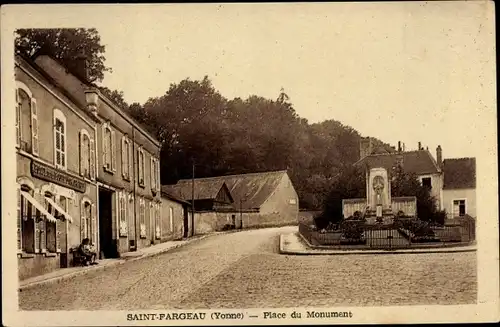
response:
{"label": "leftmost shuttered house with shop sign and striped awnings", "polygon": [[[19,278],[68,265],[97,235],[98,121],[30,58],[15,57]],[[75,149],[80,149],[82,157]]]}

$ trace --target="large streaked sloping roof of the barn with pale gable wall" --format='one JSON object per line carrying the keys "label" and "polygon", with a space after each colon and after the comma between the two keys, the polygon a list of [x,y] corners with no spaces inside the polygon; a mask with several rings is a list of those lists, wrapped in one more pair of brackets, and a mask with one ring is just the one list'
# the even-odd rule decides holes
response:
{"label": "large streaked sloping roof of the barn with pale gable wall", "polygon": [[[207,177],[195,179],[195,190],[198,182],[207,183],[206,185],[219,185],[225,183],[233,197],[236,206],[241,209],[258,209],[271,196],[280,184],[286,170],[271,171],[264,173],[251,173],[242,175],[227,175],[217,177]],[[180,180],[176,185],[188,184],[190,180]],[[183,197],[184,198],[184,197]],[[188,197],[191,198],[191,188],[189,188]]]}

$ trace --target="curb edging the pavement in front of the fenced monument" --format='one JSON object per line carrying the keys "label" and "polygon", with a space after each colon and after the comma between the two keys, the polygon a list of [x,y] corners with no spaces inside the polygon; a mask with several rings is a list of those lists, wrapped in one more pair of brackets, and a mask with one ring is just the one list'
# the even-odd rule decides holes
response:
{"label": "curb edging the pavement in front of the fenced monument", "polygon": [[300,233],[298,236],[311,248],[305,251],[289,251],[285,249],[284,234],[280,235],[280,254],[286,255],[366,255],[366,254],[424,254],[424,253],[459,253],[459,252],[476,252],[476,248],[420,248],[413,250],[327,250],[315,249]]}

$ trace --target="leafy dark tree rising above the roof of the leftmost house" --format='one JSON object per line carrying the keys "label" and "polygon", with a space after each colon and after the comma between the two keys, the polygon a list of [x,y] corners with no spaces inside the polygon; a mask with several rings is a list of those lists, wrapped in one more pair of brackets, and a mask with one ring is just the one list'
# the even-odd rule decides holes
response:
{"label": "leafy dark tree rising above the roof of the leftmost house", "polygon": [[104,72],[111,72],[105,66],[105,46],[95,28],[51,28],[18,29],[15,38],[16,53],[33,56],[48,54],[71,69],[75,59],[84,53],[88,59],[89,81],[101,82]]}

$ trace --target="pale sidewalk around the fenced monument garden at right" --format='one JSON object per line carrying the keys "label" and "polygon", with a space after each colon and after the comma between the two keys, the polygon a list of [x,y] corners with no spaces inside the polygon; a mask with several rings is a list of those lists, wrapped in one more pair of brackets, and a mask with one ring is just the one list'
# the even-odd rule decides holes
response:
{"label": "pale sidewalk around the fenced monument garden at right", "polygon": [[475,245],[414,248],[397,250],[336,250],[319,246],[311,246],[298,232],[280,235],[280,253],[290,255],[346,255],[346,254],[398,254],[398,253],[450,253],[476,251]]}

